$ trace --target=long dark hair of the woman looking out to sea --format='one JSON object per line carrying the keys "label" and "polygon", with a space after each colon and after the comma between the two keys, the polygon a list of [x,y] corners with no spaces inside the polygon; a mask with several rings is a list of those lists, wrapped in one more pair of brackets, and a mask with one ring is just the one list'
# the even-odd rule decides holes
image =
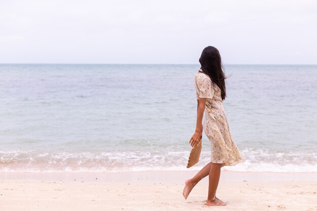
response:
{"label": "long dark hair of the woman looking out to sea", "polygon": [[208,46],[203,50],[202,56],[199,59],[201,69],[207,74],[211,81],[215,83],[221,90],[221,99],[226,98],[225,79],[227,78],[223,72],[223,65],[218,49]]}

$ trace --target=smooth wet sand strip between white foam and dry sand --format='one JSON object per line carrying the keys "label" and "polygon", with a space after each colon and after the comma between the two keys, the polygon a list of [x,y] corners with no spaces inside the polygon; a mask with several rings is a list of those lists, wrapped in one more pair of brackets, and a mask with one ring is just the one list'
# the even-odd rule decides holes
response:
{"label": "smooth wet sand strip between white foam and dry sand", "polygon": [[[138,171],[116,173],[6,173],[0,172],[1,180],[46,180],[73,182],[180,182],[193,177],[198,171]],[[96,179],[97,178],[97,179]],[[310,181],[317,182],[317,173],[235,172],[222,170],[224,182],[250,181]]]}

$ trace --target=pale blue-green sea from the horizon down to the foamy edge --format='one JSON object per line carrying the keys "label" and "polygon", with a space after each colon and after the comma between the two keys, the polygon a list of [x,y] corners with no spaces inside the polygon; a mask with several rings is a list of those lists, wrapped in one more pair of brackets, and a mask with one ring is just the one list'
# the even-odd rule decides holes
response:
{"label": "pale blue-green sea from the horizon down to the foamy edge", "polygon": [[[0,65],[0,172],[186,168],[199,65]],[[224,108],[245,162],[317,172],[317,66],[226,65]]]}

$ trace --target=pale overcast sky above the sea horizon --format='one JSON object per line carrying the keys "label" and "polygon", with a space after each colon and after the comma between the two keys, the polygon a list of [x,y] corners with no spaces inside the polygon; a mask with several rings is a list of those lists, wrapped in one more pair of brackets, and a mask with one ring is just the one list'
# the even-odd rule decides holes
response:
{"label": "pale overcast sky above the sea horizon", "polygon": [[317,64],[317,1],[0,0],[0,63]]}

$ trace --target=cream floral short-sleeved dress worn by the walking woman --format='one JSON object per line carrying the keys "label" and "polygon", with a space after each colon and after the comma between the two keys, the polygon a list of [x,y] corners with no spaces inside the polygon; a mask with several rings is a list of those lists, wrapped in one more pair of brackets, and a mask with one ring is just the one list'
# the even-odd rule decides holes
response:
{"label": "cream floral short-sleeved dress worn by the walking woman", "polygon": [[243,156],[230,134],[220,88],[201,69],[194,79],[196,98],[206,98],[203,129],[211,142],[211,162],[225,165],[243,162]]}

